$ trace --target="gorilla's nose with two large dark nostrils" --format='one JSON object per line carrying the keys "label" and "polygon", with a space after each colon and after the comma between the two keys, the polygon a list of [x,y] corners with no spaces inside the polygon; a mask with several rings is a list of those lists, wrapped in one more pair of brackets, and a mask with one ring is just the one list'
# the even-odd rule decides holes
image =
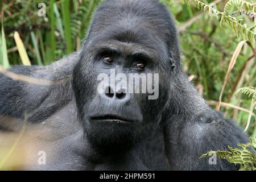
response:
{"label": "gorilla's nose with two large dark nostrils", "polygon": [[130,94],[127,93],[127,89],[123,88],[112,88],[112,86],[107,86],[105,88],[104,94],[101,94],[101,97],[104,96],[108,99],[115,99],[115,100],[122,100],[122,101],[128,101],[130,100]]}

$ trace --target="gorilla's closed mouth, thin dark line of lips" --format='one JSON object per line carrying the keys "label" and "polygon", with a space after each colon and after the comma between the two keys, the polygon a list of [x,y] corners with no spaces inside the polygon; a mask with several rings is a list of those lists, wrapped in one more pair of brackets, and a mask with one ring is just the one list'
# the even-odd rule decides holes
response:
{"label": "gorilla's closed mouth, thin dark line of lips", "polygon": [[101,122],[117,122],[117,123],[133,123],[134,120],[123,118],[118,115],[100,115],[100,116],[93,116],[90,117],[90,121],[101,121]]}

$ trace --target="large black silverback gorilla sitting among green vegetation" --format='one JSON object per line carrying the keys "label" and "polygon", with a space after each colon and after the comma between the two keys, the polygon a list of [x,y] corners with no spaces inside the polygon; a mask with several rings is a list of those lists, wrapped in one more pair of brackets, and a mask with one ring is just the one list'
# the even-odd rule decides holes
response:
{"label": "large black silverback gorilla sitting among green vegetation", "polygon": [[[226,160],[199,159],[247,137],[197,94],[182,70],[177,36],[170,11],[158,1],[109,0],[94,14],[80,52],[9,70],[55,84],[0,75],[1,132],[20,131],[25,118],[27,130],[38,131],[31,140],[40,145],[24,169],[236,170]],[[159,73],[158,98],[125,88],[99,93],[97,77],[110,70]],[[46,152],[46,164],[38,164],[38,151]]]}

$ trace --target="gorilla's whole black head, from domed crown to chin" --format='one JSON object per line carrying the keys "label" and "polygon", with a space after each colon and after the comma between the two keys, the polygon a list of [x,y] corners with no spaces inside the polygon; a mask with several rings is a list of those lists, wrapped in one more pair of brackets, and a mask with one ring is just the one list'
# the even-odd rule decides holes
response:
{"label": "gorilla's whole black head, from domed crown to chin", "polygon": [[[79,119],[95,147],[130,146],[159,128],[169,105],[170,78],[181,69],[174,24],[156,0],[112,0],[98,7],[73,75]],[[103,89],[114,91],[99,93],[98,75],[111,71],[127,77],[158,73],[158,98],[113,89],[109,82]]]}

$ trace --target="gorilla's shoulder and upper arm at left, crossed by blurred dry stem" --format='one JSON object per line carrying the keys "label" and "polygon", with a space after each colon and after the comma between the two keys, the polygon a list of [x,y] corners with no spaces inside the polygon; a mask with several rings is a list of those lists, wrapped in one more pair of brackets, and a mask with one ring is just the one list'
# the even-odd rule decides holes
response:
{"label": "gorilla's shoulder and upper arm at left, crossed by blurred dry stem", "polygon": [[[78,57],[79,52],[75,52],[48,66],[18,65],[8,70],[21,76],[39,79],[38,84],[20,81],[19,78],[14,80],[0,73],[0,115],[23,119],[24,113],[27,112],[28,119],[32,122],[47,118],[57,107],[70,99],[68,89],[60,88],[70,84],[68,78],[72,76]],[[65,81],[44,85],[40,84],[40,80],[53,83],[55,80]]]}

